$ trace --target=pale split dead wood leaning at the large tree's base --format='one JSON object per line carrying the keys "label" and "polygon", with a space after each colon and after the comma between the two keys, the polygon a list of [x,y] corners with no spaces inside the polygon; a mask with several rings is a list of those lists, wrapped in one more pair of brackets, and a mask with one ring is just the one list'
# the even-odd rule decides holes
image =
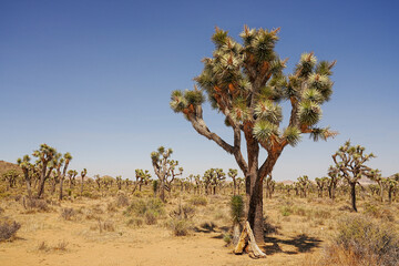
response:
{"label": "pale split dead wood leaning at the large tree's base", "polygon": [[255,242],[255,236],[253,231],[250,229],[250,225],[247,222],[245,222],[244,229],[239,236],[238,244],[234,248],[234,254],[243,254],[244,250],[248,252],[249,254],[253,254],[255,258],[265,258],[266,254],[260,250],[258,245]]}

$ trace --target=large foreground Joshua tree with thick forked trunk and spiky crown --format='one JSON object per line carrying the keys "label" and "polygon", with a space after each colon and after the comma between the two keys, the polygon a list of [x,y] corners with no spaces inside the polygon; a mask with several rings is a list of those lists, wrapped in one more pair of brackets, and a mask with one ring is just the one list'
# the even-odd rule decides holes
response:
{"label": "large foreground Joshua tree with thick forked trunk and spiky crown", "polygon": [[[336,133],[319,127],[321,104],[332,93],[331,68],[335,62],[317,62],[314,53],[304,53],[291,74],[283,73],[287,60],[275,52],[279,29],[244,28],[243,43],[236,42],[216,28],[212,37],[215,51],[205,58],[203,72],[195,78],[197,86],[192,91],[173,91],[171,108],[183,113],[201,135],[214,141],[233,154],[245,175],[247,219],[255,237],[263,242],[263,178],[287,145],[295,146],[301,134],[310,134],[317,141]],[[204,93],[211,105],[225,115],[225,124],[232,127],[234,142],[227,143],[211,131],[203,119]],[[282,127],[282,101],[290,102],[288,123]],[[242,134],[246,145],[246,158],[242,152]],[[267,158],[259,162],[259,150],[265,149]]]}

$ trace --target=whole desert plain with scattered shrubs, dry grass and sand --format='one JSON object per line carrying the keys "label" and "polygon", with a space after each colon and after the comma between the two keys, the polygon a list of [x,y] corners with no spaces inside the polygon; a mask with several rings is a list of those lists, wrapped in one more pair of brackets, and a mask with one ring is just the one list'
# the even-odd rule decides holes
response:
{"label": "whole desert plain with scattered shrubs, dry grass and sand", "polygon": [[[319,180],[306,176],[298,176],[297,182],[275,182],[273,190],[265,181],[264,243],[258,243],[266,254],[263,260],[250,259],[250,254],[233,254],[245,222],[245,194],[237,193],[233,181],[216,177],[216,182],[208,182],[212,173],[217,176],[212,170],[200,178],[175,178],[164,194],[164,202],[150,176],[147,182],[137,178],[121,183],[111,176],[86,177],[83,193],[82,178],[75,178],[75,185],[62,201],[59,186],[53,191],[51,185],[44,186],[43,198],[37,194],[30,198],[21,172],[13,186],[2,178],[0,264],[38,264],[44,259],[66,265],[76,262],[76,257],[86,265],[399,262],[397,186],[388,200],[389,190],[381,194],[377,183],[362,183],[356,187],[358,212],[354,212],[350,185],[341,176],[334,197],[328,185],[320,186]],[[381,184],[391,185],[389,181],[397,180],[395,175]],[[324,181],[328,184],[329,177]],[[50,184],[51,180],[47,182]],[[68,187],[69,182],[73,180],[65,181]],[[32,191],[40,186],[34,180],[32,184]],[[153,256],[154,248],[160,256]],[[18,256],[20,253],[25,256]]]}

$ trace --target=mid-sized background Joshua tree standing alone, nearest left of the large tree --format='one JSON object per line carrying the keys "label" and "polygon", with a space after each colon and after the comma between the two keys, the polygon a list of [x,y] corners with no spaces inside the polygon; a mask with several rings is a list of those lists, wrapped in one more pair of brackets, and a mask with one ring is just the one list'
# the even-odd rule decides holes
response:
{"label": "mid-sized background Joshua tree standing alone, nearest left of the large tree", "polygon": [[177,168],[178,161],[170,160],[172,153],[172,149],[165,150],[163,146],[151,153],[154,172],[160,180],[160,198],[162,202],[165,202],[165,191],[171,192],[171,184],[174,178],[183,174],[183,167]]}

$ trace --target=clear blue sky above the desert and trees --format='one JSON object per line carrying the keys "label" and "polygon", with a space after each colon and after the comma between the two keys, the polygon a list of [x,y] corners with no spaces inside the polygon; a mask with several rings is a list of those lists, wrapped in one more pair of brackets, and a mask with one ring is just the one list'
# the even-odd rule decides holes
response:
{"label": "clear blue sky above the desert and trees", "polygon": [[[193,86],[215,25],[238,39],[248,24],[282,27],[276,49],[288,71],[306,51],[337,60],[320,124],[340,134],[286,149],[274,177],[326,175],[348,139],[391,175],[399,172],[398,10],[398,1],[1,1],[0,160],[48,143],[73,155],[71,168],[125,178],[152,170],[150,153],[164,145],[185,176],[237,168],[168,100]],[[206,109],[205,120],[232,140],[221,115]]]}

